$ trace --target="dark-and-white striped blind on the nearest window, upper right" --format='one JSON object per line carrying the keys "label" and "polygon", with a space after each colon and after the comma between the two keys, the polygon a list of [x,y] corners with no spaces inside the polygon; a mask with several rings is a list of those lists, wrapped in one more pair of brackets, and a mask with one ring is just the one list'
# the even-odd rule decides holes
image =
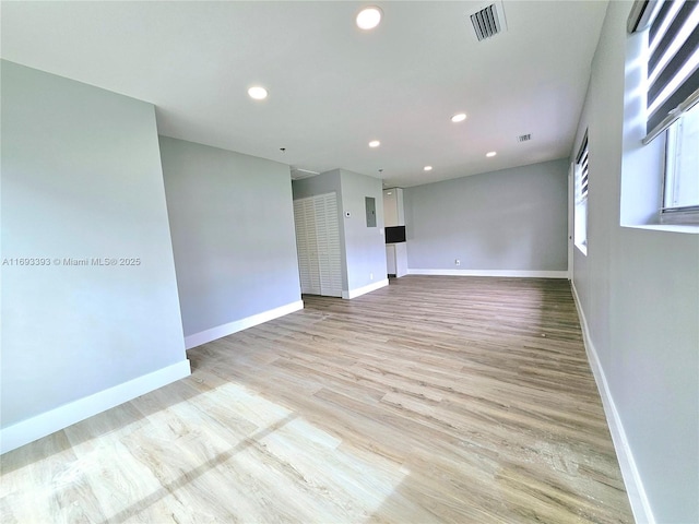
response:
{"label": "dark-and-white striped blind on the nearest window, upper right", "polygon": [[637,0],[629,31],[648,34],[648,143],[699,102],[699,1]]}

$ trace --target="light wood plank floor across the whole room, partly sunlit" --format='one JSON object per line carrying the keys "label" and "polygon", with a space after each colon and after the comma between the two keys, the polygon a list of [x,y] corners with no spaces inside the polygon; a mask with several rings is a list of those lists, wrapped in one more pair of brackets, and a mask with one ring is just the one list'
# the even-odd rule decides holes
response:
{"label": "light wood plank floor across the whole room, partly sunlit", "polygon": [[632,522],[566,281],[305,302],[3,455],[0,521]]}

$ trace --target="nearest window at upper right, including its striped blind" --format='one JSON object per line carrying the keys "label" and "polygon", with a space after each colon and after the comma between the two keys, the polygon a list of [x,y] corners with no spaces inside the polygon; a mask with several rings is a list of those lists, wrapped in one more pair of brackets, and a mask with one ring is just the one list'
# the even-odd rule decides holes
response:
{"label": "nearest window at upper right, including its striped blind", "polygon": [[661,222],[699,224],[699,2],[637,0],[628,28],[648,29],[643,143],[665,138]]}

